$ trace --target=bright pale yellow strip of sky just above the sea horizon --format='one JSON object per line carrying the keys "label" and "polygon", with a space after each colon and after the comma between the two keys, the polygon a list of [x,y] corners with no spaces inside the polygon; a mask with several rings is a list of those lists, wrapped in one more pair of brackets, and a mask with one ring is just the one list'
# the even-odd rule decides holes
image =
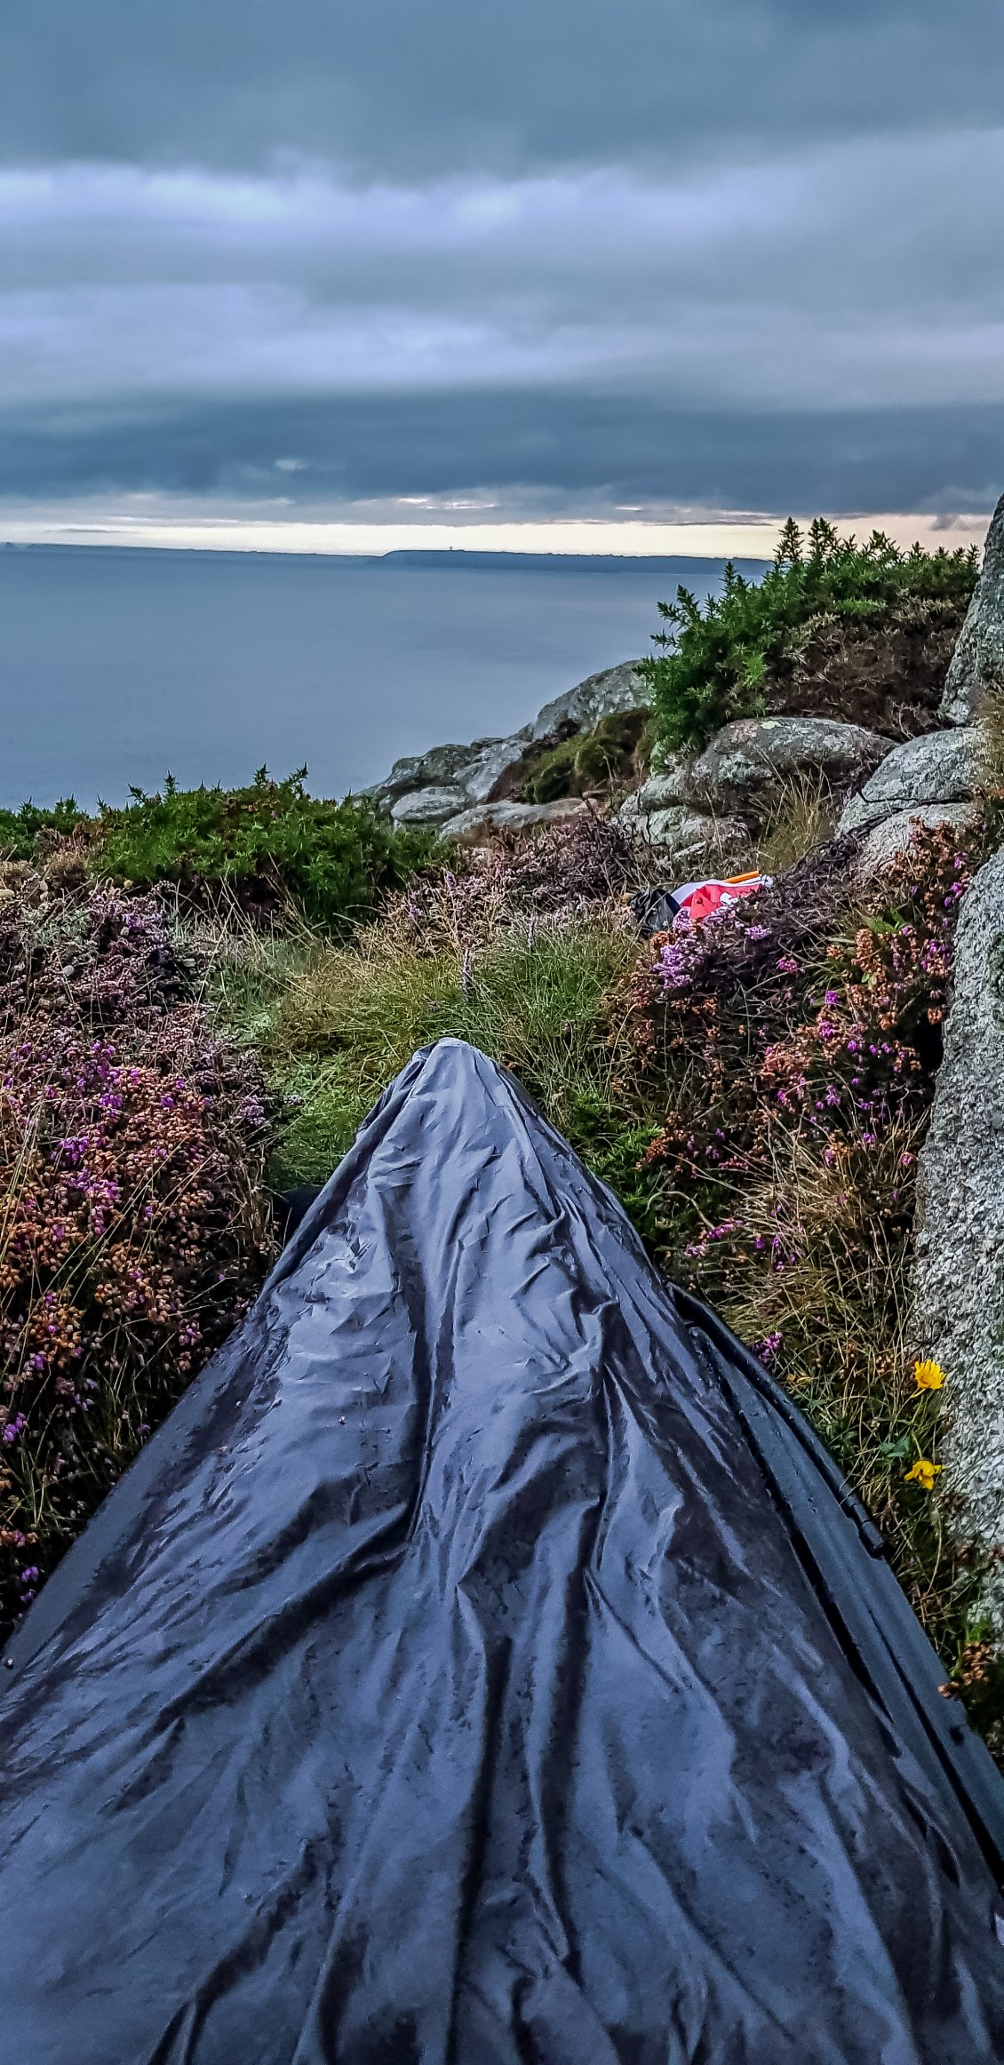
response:
{"label": "bright pale yellow strip of sky just above the sea horizon", "polygon": [[[138,516],[89,514],[87,518],[4,516],[0,545],[138,545],[167,551],[300,551],[331,558],[380,555],[386,551],[512,551],[576,558],[614,553],[622,558],[768,560],[781,535],[781,516],[694,522],[616,522],[609,518],[556,518],[527,522],[324,522],[233,516]],[[835,516],[841,533],[857,539],[884,531],[897,545],[913,541],[925,549],[981,545],[990,514],[864,512]]]}

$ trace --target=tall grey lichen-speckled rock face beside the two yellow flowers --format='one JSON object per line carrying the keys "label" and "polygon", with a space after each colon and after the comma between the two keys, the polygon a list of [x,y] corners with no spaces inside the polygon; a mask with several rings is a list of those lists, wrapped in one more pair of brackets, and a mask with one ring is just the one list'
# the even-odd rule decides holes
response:
{"label": "tall grey lichen-speckled rock face beside the two yellow flowers", "polygon": [[[954,997],[919,1156],[913,1348],[946,1373],[940,1485],[961,1538],[1004,1549],[1004,851],[963,900]],[[1004,1563],[987,1605],[1004,1631]]]}

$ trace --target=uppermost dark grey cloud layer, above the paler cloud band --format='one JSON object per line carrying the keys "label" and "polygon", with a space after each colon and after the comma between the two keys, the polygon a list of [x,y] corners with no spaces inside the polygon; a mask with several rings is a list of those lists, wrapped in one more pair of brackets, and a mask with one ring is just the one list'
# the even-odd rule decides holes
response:
{"label": "uppermost dark grey cloud layer, above the paler cloud band", "polygon": [[17,161],[357,180],[721,163],[1000,118],[998,0],[4,0]]}

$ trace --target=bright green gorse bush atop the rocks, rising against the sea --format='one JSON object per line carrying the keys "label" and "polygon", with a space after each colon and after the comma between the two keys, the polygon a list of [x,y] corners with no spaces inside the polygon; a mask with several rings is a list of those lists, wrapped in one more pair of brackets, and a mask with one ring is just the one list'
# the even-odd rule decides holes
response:
{"label": "bright green gorse bush atop the rocks, rising against the sea", "polygon": [[[738,717],[785,706],[814,708],[818,686],[812,700],[804,694],[789,700],[791,677],[797,677],[806,646],[830,646],[828,655],[816,655],[814,667],[814,675],[826,686],[826,667],[833,673],[841,638],[847,636],[859,646],[861,669],[868,673],[868,644],[874,644],[876,630],[882,632],[884,675],[878,708],[868,708],[851,661],[837,702],[822,702],[820,712],[895,729],[890,634],[913,632],[923,646],[940,632],[936,653],[940,659],[944,650],[944,675],[975,580],[975,551],[923,551],[915,545],[905,553],[880,531],[859,545],[853,537],[839,537],[820,516],[808,527],[808,535],[789,518],[762,580],[746,580],[727,566],[721,597],[709,597],[702,605],[688,589],[678,589],[676,603],[659,603],[667,626],[655,634],[661,650],[640,663],[653,692],[659,745],[698,752],[721,725]],[[917,692],[911,679],[899,690],[907,704]],[[930,702],[930,696],[932,684],[925,681],[923,700]],[[903,729],[909,733],[921,725],[907,719]]]}

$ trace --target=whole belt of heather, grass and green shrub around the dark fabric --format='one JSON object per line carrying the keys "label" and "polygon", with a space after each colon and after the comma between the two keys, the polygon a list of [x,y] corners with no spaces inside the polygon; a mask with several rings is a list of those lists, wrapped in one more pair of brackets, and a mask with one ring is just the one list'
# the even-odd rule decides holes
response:
{"label": "whole belt of heather, grass and green shrub around the dark fabric", "polygon": [[254,1295],[269,1192],[322,1183],[450,1032],[519,1074],[799,1400],[1004,1753],[979,1559],[938,1495],[940,1371],[907,1342],[954,923],[998,805],[866,894],[828,799],[789,789],[775,884],[653,940],[593,812],[432,863],[382,826],[370,845],[366,805],[335,838],[333,809],[297,779],[167,789],[35,826],[0,869],[6,1619]]}

